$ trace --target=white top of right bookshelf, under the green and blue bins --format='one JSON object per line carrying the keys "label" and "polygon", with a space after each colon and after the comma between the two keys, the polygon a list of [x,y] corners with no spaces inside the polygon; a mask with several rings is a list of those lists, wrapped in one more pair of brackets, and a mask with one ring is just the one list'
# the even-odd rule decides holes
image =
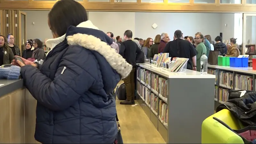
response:
{"label": "white top of right bookshelf, under the green and blue bins", "polygon": [[236,71],[240,73],[254,74],[256,75],[256,70],[253,70],[252,67],[230,67],[230,66],[218,66],[218,65],[209,65],[208,68],[216,68],[228,71]]}

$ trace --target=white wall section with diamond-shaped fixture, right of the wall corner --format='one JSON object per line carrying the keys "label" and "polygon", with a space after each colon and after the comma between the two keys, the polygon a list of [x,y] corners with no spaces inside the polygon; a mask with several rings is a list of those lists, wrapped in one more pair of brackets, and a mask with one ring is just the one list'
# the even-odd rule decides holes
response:
{"label": "white wall section with diamond-shaped fixture, right of the wall corner", "polygon": [[[196,32],[203,35],[218,36],[220,34],[220,13],[168,13],[168,12],[137,12],[135,15],[136,37],[155,38],[163,32],[173,37],[175,30],[182,31],[184,36],[195,36]],[[152,28],[156,23],[158,27]]]}

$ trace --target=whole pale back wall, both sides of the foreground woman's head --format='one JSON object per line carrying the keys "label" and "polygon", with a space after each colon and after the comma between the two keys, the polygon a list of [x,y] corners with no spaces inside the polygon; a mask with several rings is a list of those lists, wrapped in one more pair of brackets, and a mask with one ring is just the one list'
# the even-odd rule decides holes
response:
{"label": "whole pale back wall, both sides of the foreground woman's head", "polygon": [[[27,39],[52,38],[48,27],[49,11],[24,11],[27,13]],[[231,13],[172,13],[172,12],[88,12],[89,20],[100,30],[112,32],[114,36],[123,36],[129,29],[133,38],[146,39],[163,32],[173,37],[180,29],[184,36],[194,36],[196,32],[211,35],[212,39],[223,33],[223,39],[234,37],[234,14]],[[32,24],[35,22],[35,24]],[[158,27],[152,28],[156,23]],[[225,26],[227,24],[227,27]]]}

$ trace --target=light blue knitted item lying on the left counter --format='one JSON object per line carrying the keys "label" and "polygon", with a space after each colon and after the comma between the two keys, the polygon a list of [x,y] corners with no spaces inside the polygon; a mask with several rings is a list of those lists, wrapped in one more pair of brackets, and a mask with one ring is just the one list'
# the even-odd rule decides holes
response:
{"label": "light blue knitted item lying on the left counter", "polygon": [[19,79],[20,67],[11,66],[8,68],[0,68],[0,79]]}

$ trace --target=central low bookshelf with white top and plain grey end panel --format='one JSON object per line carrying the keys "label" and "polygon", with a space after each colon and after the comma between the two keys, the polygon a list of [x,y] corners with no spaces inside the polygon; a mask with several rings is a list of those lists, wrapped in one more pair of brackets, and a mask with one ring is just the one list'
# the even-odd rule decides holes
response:
{"label": "central low bookshelf with white top and plain grey end panel", "polygon": [[136,98],[166,143],[201,143],[202,122],[214,111],[214,75],[169,72],[137,64]]}

